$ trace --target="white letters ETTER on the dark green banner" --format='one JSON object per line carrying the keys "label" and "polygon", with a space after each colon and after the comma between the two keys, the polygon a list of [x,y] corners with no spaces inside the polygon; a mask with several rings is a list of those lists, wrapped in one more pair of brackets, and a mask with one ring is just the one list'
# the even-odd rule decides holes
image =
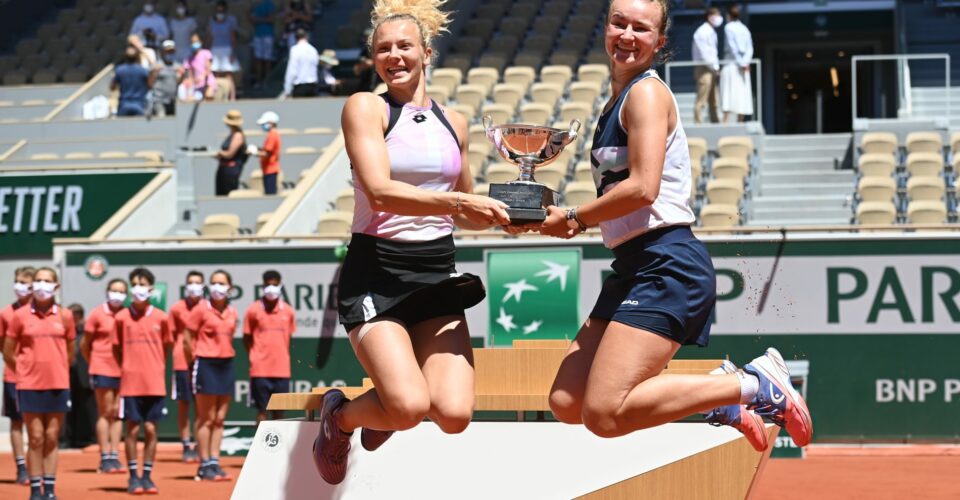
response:
{"label": "white letters ETTER on the dark green banner", "polygon": [[[28,196],[29,220],[25,207]],[[30,233],[79,232],[81,208],[81,186],[0,187],[0,233],[20,233],[24,229]],[[4,223],[7,214],[13,215],[12,224]]]}

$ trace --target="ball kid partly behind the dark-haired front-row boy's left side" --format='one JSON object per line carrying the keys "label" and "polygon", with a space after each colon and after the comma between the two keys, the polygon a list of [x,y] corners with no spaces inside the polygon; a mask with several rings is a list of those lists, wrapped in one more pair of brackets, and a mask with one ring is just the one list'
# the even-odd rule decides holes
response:
{"label": "ball kid partly behind the dark-haired front-row boy's left side", "polygon": [[107,301],[90,311],[80,340],[80,355],[89,365],[88,372],[97,402],[97,443],[100,445],[98,472],[124,472],[117,445],[123,430],[119,419],[120,365],[113,357],[114,321],[127,300],[127,282],[113,279],[107,284]]}

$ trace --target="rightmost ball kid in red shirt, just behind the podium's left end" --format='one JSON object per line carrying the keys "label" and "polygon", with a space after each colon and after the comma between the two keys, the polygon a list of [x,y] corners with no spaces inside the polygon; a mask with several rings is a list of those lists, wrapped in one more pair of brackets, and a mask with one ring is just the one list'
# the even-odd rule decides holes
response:
{"label": "rightmost ball kid in red shirt, just behind the podium's left end", "polygon": [[[297,330],[293,308],[283,301],[280,273],[263,273],[263,297],[250,304],[243,318],[243,346],[250,356],[250,399],[257,423],[267,418],[270,396],[290,392],[290,337]],[[279,411],[273,418],[283,418]]]}

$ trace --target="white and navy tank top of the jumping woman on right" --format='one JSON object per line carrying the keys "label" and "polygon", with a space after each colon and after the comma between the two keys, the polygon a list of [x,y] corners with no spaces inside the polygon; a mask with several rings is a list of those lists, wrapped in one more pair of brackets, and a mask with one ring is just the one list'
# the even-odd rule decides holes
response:
{"label": "white and navy tank top of the jumping woman on right", "polygon": [[[652,69],[641,73],[617,96],[613,106],[600,115],[597,130],[593,134],[593,148],[590,154],[597,197],[630,176],[627,131],[623,128],[622,108],[630,89],[646,78],[656,78],[663,83]],[[666,86],[666,83],[663,85]],[[669,91],[669,88],[667,90]],[[673,92],[670,92],[670,96],[673,98],[674,108],[677,109],[677,125],[667,134],[667,152],[663,160],[660,194],[652,205],[600,223],[600,233],[607,248],[614,248],[651,229],[689,225],[696,219],[689,202],[690,186],[693,181],[690,173],[687,135],[680,124],[679,107]]]}

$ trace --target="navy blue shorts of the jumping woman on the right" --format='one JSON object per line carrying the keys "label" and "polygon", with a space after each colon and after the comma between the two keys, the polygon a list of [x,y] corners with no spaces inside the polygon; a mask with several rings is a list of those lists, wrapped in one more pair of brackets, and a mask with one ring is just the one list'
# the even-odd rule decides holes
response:
{"label": "navy blue shorts of the jumping woman on the right", "polygon": [[689,226],[654,229],[613,249],[591,318],[616,321],[681,345],[706,346],[717,281],[707,248]]}

